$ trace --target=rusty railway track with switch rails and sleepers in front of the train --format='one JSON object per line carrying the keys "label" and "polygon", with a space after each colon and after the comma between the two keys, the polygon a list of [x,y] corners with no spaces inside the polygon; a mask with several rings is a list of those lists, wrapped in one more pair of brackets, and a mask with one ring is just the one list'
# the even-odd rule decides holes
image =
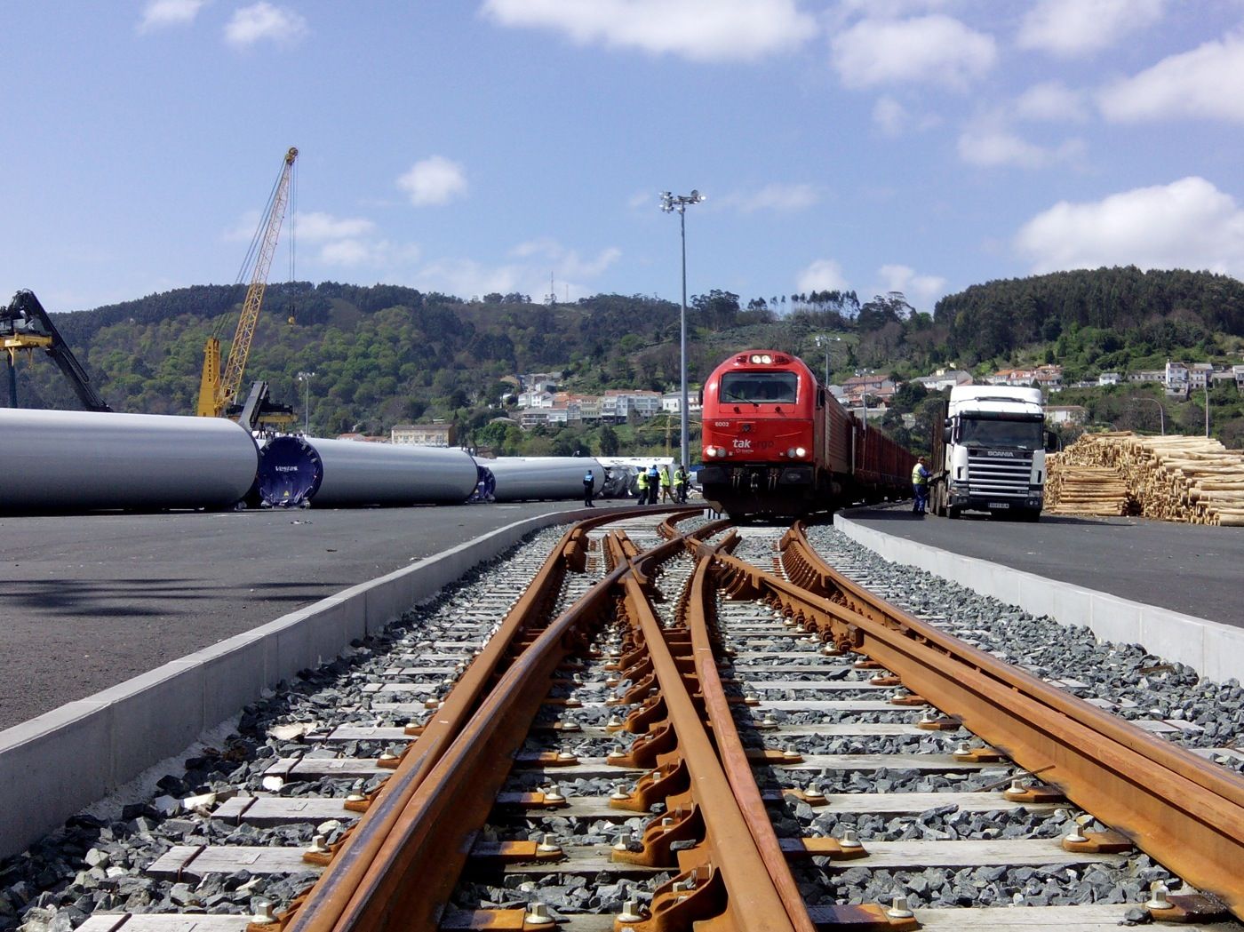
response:
{"label": "rusty railway track with switch rails and sleepers in front of the train", "polygon": [[274,698],[266,744],[169,788],[210,791],[132,814],[149,857],[85,855],[108,895],[81,927],[1244,928],[1237,774],[797,528],[682,519],[546,536]]}

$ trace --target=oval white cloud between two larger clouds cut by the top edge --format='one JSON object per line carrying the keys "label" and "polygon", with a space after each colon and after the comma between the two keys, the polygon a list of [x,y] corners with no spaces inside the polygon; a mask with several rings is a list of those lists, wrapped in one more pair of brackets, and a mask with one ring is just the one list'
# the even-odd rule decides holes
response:
{"label": "oval white cloud between two larger clouds cut by the top edge", "polygon": [[847,87],[929,82],[962,88],[998,60],[993,36],[940,14],[862,20],[838,32],[831,50]]}

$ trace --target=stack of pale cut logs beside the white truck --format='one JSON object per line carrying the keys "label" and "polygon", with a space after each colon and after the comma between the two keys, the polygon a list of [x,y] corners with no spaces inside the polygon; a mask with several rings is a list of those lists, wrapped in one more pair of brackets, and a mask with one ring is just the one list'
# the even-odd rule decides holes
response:
{"label": "stack of pale cut logs beside the white truck", "polygon": [[1138,437],[1127,431],[1084,434],[1052,459],[1059,470],[1116,470],[1144,518],[1244,526],[1244,455],[1218,440]]}

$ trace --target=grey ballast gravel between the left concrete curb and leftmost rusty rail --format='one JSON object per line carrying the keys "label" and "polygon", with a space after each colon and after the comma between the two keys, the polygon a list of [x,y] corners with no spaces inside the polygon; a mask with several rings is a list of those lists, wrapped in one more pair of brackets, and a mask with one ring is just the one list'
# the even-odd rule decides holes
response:
{"label": "grey ballast gravel between the left concrete curb and leftmost rusty rail", "polygon": [[[184,770],[165,774],[146,788],[149,795],[141,801],[106,800],[91,813],[73,816],[24,854],[0,862],[0,931],[20,927],[22,932],[68,932],[96,911],[208,910],[250,915],[262,903],[280,908],[294,900],[317,874],[274,876],[241,870],[209,875],[192,885],[144,876],[142,870],[177,845],[306,847],[315,835],[325,835],[330,844],[337,840],[347,826],[343,820],[255,827],[229,825],[209,814],[239,790],[343,799],[351,793],[374,789],[383,778],[274,780],[266,771],[277,758],[337,757],[351,748],[328,750],[276,738],[271,732],[280,733],[291,725],[302,727],[294,728],[295,732],[313,732],[330,717],[335,724],[404,725],[409,715],[368,709],[372,696],[363,687],[396,666],[394,653],[443,650],[434,647],[434,641],[486,640],[506,608],[499,597],[511,591],[518,597],[561,533],[547,529],[529,535],[506,554],[475,567],[412,608],[384,632],[356,642],[347,656],[282,683],[274,694],[241,712],[235,733],[185,758]],[[356,711],[343,712],[352,708]],[[379,754],[386,747],[361,742],[357,749]]]}

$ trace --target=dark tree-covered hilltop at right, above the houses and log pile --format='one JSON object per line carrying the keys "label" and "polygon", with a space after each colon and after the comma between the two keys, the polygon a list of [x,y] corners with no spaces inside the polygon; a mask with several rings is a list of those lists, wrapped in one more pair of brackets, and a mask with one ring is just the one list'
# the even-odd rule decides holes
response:
{"label": "dark tree-covered hilltop at right, above the houses and log pile", "polygon": [[1055,342],[1071,330],[1112,331],[1136,355],[1244,336],[1244,282],[1212,273],[1135,265],[1006,279],[938,301],[934,322],[952,355],[970,362]]}

